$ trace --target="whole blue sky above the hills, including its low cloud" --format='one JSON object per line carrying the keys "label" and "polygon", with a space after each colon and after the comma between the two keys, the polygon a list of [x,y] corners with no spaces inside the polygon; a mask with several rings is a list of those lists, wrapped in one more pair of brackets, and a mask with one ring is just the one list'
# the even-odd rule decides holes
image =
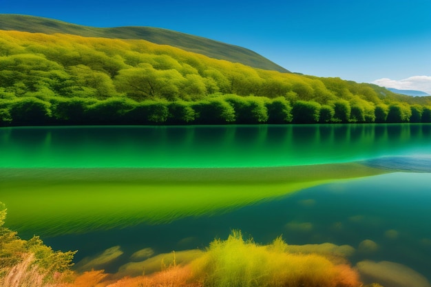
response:
{"label": "whole blue sky above the hills, including its low cloud", "polygon": [[167,28],[247,47],[293,72],[431,94],[431,0],[0,0],[0,13]]}

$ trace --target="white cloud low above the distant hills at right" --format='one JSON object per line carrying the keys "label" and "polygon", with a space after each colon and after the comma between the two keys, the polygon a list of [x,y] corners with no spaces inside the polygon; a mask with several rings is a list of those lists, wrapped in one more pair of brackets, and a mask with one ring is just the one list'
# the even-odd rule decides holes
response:
{"label": "white cloud low above the distant hills at right", "polygon": [[393,87],[395,89],[414,89],[431,94],[431,76],[411,76],[402,80],[380,78],[372,82],[381,87]]}

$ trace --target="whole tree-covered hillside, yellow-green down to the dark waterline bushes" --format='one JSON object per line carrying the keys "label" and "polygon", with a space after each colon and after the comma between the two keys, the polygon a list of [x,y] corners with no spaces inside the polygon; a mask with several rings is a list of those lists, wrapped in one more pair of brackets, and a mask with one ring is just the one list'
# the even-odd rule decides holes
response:
{"label": "whole tree-covered hillside, yellow-green down to the dark waterline bushes", "polygon": [[0,126],[431,122],[431,97],[169,45],[0,31]]}

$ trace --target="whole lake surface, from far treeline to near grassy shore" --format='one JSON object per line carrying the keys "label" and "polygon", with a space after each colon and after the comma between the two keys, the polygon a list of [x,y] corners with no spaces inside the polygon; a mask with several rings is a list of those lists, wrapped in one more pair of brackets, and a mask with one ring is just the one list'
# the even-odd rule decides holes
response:
{"label": "whole lake surface, from far treeline to near grassy shore", "polygon": [[0,153],[6,224],[76,262],[120,246],[96,266],[109,272],[235,228],[431,279],[431,125],[18,127],[0,129]]}

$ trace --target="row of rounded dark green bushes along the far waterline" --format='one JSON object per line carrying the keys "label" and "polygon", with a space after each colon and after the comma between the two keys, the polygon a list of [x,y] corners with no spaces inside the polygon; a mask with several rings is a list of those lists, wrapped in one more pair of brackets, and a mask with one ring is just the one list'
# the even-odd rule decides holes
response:
{"label": "row of rounded dark green bushes along the far waterline", "polygon": [[204,100],[126,97],[21,97],[0,101],[0,125],[184,125],[184,124],[431,123],[431,108],[392,103],[365,109],[347,100],[328,105],[286,98],[213,95]]}

